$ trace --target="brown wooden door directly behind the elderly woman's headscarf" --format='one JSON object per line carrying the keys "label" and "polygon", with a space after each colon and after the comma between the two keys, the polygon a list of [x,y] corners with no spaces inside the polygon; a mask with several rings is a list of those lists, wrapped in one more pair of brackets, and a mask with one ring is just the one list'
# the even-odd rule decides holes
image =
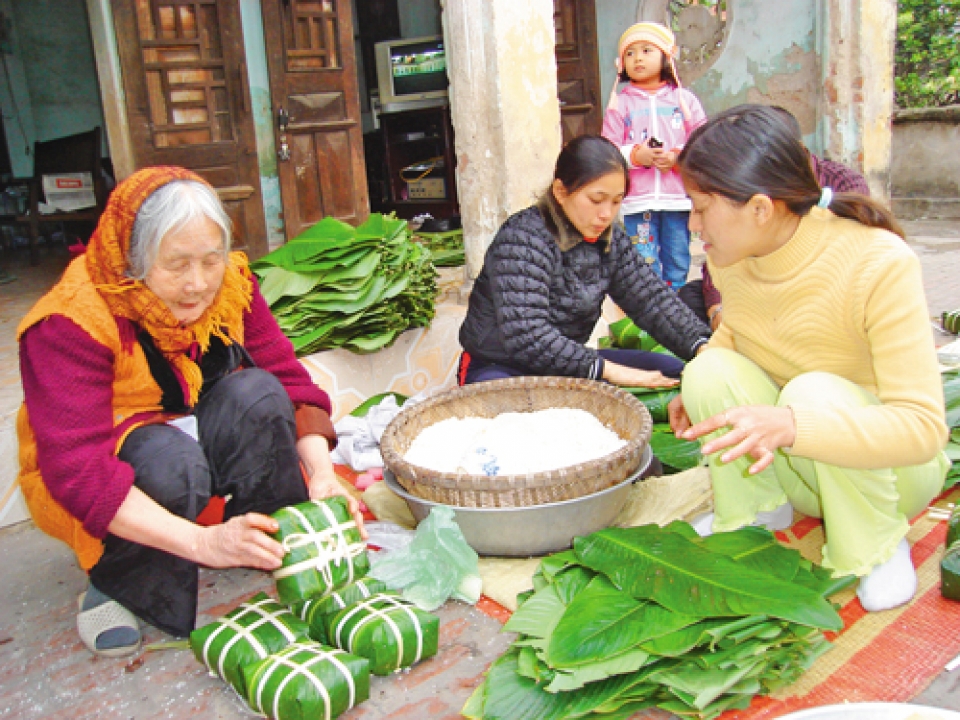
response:
{"label": "brown wooden door directly behind the elderly woman's headscarf", "polygon": [[236,0],[112,0],[137,167],[180,165],[217,188],[234,247],[267,252]]}

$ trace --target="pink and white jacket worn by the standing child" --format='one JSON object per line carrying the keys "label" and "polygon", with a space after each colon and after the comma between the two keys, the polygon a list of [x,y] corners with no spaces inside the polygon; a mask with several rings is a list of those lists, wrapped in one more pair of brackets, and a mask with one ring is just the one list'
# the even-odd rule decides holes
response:
{"label": "pink and white jacket worn by the standing child", "polygon": [[[684,119],[680,97],[689,117]],[[623,199],[624,215],[645,210],[689,210],[690,198],[676,168],[660,172],[630,162],[634,145],[653,137],[663,147],[680,152],[690,133],[707,119],[697,96],[686,89],[666,84],[655,92],[627,85],[617,95],[616,107],[608,108],[603,117],[603,136],[620,148],[630,166],[630,187]]]}

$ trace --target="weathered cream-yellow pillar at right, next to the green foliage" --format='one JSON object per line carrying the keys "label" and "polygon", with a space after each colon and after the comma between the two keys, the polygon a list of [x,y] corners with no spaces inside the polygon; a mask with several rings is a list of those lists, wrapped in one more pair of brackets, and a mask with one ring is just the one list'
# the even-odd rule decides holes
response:
{"label": "weathered cream-yellow pillar at right, next to the green foliage", "polygon": [[819,0],[824,154],[890,201],[896,0]]}

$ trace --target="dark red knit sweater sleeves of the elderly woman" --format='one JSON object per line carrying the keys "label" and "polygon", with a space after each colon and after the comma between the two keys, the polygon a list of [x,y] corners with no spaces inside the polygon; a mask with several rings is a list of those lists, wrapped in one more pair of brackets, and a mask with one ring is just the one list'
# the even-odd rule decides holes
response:
{"label": "dark red knit sweater sleeves of the elderly woman", "polygon": [[[302,408],[300,434],[307,428],[335,445],[330,398],[297,360],[256,281],[244,337],[257,366],[273,373]],[[133,468],[113,452],[113,353],[72,320],[53,315],[23,334],[20,375],[47,489],[87,532],[105,537],[133,485]]]}

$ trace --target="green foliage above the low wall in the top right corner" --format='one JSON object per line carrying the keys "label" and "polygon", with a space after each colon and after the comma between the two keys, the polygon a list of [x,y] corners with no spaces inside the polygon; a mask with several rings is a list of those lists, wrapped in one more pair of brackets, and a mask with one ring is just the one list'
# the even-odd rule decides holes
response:
{"label": "green foliage above the low wall in the top right corner", "polygon": [[900,107],[960,102],[960,0],[900,0],[895,75]]}

